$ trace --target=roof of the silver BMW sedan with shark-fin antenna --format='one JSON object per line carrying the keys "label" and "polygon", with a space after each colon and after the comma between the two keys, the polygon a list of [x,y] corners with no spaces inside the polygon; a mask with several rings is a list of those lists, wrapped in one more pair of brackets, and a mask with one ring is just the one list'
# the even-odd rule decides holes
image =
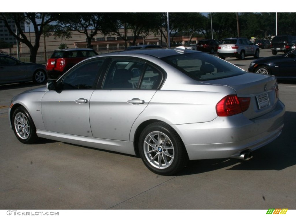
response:
{"label": "roof of the silver BMW sedan with shark-fin antenna", "polygon": [[143,50],[133,50],[133,51],[120,51],[120,52],[111,52],[108,54],[102,54],[96,57],[101,57],[101,56],[115,56],[115,55],[136,55],[136,54],[145,54],[145,55],[150,55],[153,57],[157,58],[163,58],[163,57],[168,57],[168,56],[173,56],[173,55],[178,55],[182,53],[203,53],[199,51],[193,51],[193,50],[187,50],[185,49],[184,46],[181,46],[183,48],[174,48],[174,49],[143,49]]}

